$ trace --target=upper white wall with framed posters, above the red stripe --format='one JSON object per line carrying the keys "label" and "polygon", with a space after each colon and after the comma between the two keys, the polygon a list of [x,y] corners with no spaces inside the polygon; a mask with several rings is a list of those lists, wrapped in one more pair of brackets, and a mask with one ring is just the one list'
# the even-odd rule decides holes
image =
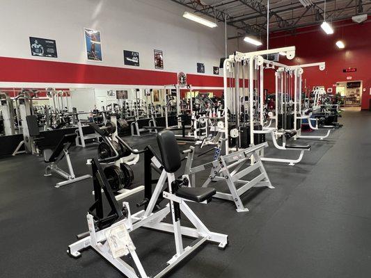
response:
{"label": "upper white wall with framed posters, above the red stripe", "polygon": [[[191,22],[182,17],[187,8],[170,0],[1,0],[1,10],[5,57],[127,67],[125,49],[140,54],[140,67],[131,68],[155,70],[153,50],[159,49],[164,71],[196,73],[196,63],[205,63],[212,75],[225,53],[223,22],[217,28]],[[101,31],[101,63],[86,60],[84,27]],[[235,34],[228,28],[228,36]],[[58,58],[31,56],[30,36],[56,40]],[[228,44],[229,52],[248,51],[242,40],[239,48],[237,40]]]}

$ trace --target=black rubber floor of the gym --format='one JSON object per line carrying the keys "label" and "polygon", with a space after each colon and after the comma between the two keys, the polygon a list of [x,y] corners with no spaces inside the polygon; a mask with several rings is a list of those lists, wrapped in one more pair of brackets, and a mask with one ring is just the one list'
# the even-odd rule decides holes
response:
{"label": "black rubber floor of the gym", "polygon": [[[294,167],[265,163],[276,189],[246,193],[248,213],[217,199],[190,204],[210,230],[228,234],[230,244],[223,251],[203,245],[168,276],[371,277],[371,113],[345,112],[340,121],[344,127],[329,138],[306,140],[312,149]],[[127,140],[157,149],[153,136]],[[90,172],[86,159],[95,154],[96,147],[72,149],[77,174]],[[142,163],[133,166],[137,185],[143,184]],[[43,177],[44,169],[36,156],[0,160],[0,277],[122,277],[93,250],[80,259],[66,253],[87,230],[92,180],[54,188],[58,179]],[[142,198],[129,199],[132,211]],[[139,229],[132,237],[150,276],[175,254],[169,234]]]}

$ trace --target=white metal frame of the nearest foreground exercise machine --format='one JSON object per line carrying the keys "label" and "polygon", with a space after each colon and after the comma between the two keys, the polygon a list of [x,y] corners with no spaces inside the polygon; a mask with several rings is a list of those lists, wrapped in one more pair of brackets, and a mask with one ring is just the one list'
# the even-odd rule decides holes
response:
{"label": "white metal frame of the nearest foreground exercise machine", "polygon": [[[154,163],[158,168],[161,167],[161,163],[155,156],[152,158],[152,163]],[[169,185],[168,192],[163,192],[164,188],[167,186],[166,181]],[[143,211],[139,211],[138,213],[134,213],[134,215],[130,215],[129,205],[124,203],[124,206],[127,207],[128,211],[127,218],[120,220],[119,222],[111,225],[111,227],[102,229],[101,231],[95,231],[93,215],[88,213],[87,220],[89,236],[82,238],[72,245],[69,245],[68,253],[77,258],[81,256],[81,250],[92,247],[98,254],[103,256],[104,259],[109,261],[109,263],[122,272],[123,275],[126,275],[129,278],[150,278],[150,276],[148,276],[145,272],[143,265],[133,248],[128,248],[128,250],[132,256],[136,270],[138,270],[139,273],[137,273],[136,270],[123,259],[113,259],[106,234],[108,234],[109,231],[111,231],[111,229],[114,227],[118,227],[120,225],[124,225],[129,233],[140,227],[147,227],[157,231],[165,231],[166,233],[174,234],[176,254],[167,262],[166,268],[157,273],[157,275],[153,276],[153,278],[159,278],[166,275],[175,267],[175,265],[187,258],[187,256],[196,251],[198,247],[200,247],[206,241],[218,243],[219,248],[224,249],[228,244],[228,236],[225,234],[214,233],[207,229],[205,224],[201,222],[197,215],[187,205],[187,202],[192,201],[177,197],[172,192],[170,185],[173,181],[175,181],[174,173],[168,173],[166,170],[162,170],[159,181],[157,182],[147,208]],[[167,204],[166,207],[154,212],[153,210],[161,192],[163,192],[163,197],[170,201],[170,204]],[[189,221],[194,224],[195,228],[183,227],[180,225],[180,219],[175,217],[175,203],[179,204],[180,210],[189,219]],[[171,213],[172,216],[172,224],[162,222],[162,220],[164,220],[166,215],[169,213]],[[191,245],[184,247],[182,243],[182,235],[190,238],[196,238],[196,240]]]}

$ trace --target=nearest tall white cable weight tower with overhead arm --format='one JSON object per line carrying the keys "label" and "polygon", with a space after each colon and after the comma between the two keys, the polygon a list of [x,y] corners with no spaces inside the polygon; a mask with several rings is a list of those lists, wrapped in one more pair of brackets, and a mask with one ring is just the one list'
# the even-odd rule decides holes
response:
{"label": "nearest tall white cable weight tower with overhead arm", "polygon": [[[289,163],[294,165],[301,161],[303,152],[310,150],[310,145],[292,145],[287,144],[286,140],[296,135],[295,131],[290,129],[290,124],[287,124],[287,111],[290,111],[291,96],[292,96],[292,76],[287,66],[279,63],[265,60],[263,56],[268,54],[278,54],[284,52],[288,59],[295,56],[295,47],[283,47],[279,49],[267,49],[263,51],[254,51],[249,53],[236,52],[224,61],[223,80],[225,92],[225,119],[224,132],[226,138],[235,138],[235,147],[230,149],[230,142],[226,140],[226,154],[232,151],[237,151],[239,148],[248,145],[258,145],[265,142],[265,136],[271,135],[274,142],[274,147],[281,150],[299,151],[299,158],[267,158],[264,152],[260,152],[261,161],[272,161]],[[276,72],[276,129],[266,126],[264,113],[264,69],[274,68],[279,65]],[[242,84],[240,84],[242,79]],[[246,80],[248,83],[246,84]],[[278,84],[278,82],[280,82]],[[242,97],[242,105],[240,104]],[[246,108],[248,106],[248,109]],[[228,109],[230,110],[229,122]],[[281,109],[281,110],[279,110]],[[282,122],[278,125],[278,120],[281,112]],[[242,120],[239,115],[243,115]],[[247,117],[247,119],[246,119]],[[232,124],[231,129],[228,128]],[[279,128],[279,129],[278,129]],[[242,136],[240,136],[242,134]],[[282,145],[278,144],[278,138],[282,139]]]}

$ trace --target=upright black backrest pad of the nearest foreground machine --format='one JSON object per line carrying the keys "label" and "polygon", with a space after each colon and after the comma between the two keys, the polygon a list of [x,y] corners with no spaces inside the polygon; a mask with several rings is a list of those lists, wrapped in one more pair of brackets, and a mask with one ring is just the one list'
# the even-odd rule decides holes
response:
{"label": "upright black backrest pad of the nearest foreground machine", "polygon": [[160,131],[157,133],[157,144],[159,144],[159,152],[166,172],[173,173],[178,170],[182,165],[182,159],[174,133]]}

